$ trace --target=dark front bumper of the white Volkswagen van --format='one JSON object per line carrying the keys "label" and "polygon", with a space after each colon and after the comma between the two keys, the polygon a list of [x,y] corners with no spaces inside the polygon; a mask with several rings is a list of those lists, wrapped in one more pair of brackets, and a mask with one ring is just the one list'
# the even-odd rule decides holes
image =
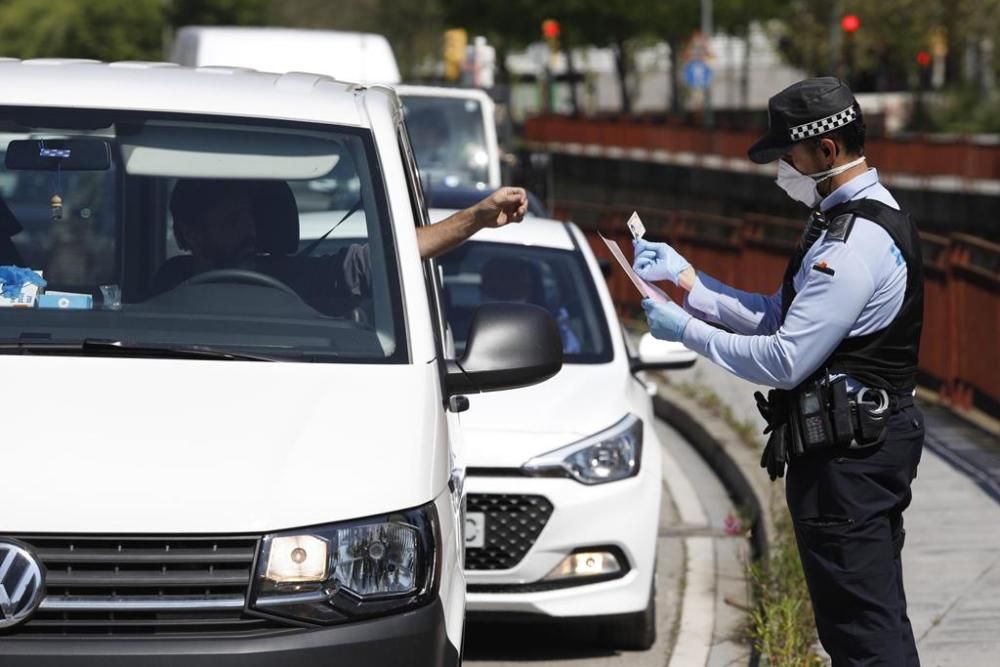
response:
{"label": "dark front bumper of the white Volkswagen van", "polygon": [[0,665],[447,665],[459,664],[440,599],[420,609],[331,628],[244,638],[4,637]]}

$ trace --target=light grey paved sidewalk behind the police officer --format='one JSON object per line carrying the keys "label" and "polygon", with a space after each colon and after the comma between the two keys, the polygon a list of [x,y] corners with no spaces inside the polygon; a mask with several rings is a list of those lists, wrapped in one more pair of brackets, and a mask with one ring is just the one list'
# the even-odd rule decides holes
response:
{"label": "light grey paved sidewalk behind the police officer", "polygon": [[[700,360],[672,384],[710,387],[737,420],[760,424],[756,387]],[[989,473],[1000,443],[943,409],[927,406],[913,503],[904,514],[903,569],[910,620],[925,667],[995,665],[1000,656],[1000,500]],[[993,449],[995,447],[995,449]],[[985,449],[984,449],[985,448]],[[754,465],[743,472],[763,476]],[[984,475],[985,473],[985,475]]]}

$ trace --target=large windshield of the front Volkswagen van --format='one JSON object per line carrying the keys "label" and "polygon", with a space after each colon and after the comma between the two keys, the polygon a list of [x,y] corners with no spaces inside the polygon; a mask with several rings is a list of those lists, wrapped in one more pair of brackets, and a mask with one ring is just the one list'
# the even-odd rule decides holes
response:
{"label": "large windshield of the front Volkswagen van", "polygon": [[406,361],[367,130],[5,108],[0,156],[0,351]]}

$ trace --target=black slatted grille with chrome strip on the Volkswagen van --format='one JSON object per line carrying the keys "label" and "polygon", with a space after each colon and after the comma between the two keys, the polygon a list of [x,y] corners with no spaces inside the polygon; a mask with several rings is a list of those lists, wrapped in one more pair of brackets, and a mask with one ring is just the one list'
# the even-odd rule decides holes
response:
{"label": "black slatted grille with chrome strip on the Volkswagen van", "polygon": [[18,635],[245,635],[287,628],[243,613],[256,537],[19,537],[46,597]]}

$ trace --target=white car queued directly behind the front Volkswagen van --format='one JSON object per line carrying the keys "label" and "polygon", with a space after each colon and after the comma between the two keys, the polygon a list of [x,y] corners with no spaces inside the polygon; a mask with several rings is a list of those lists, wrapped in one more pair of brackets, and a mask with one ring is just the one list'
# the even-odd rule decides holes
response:
{"label": "white car queued directly behind the front Volkswagen van", "polygon": [[609,644],[649,648],[662,484],[652,402],[636,373],[687,367],[696,355],[648,334],[641,356],[630,354],[572,223],[528,217],[439,262],[458,349],[490,302],[546,308],[563,339],[555,378],[474,396],[462,415],[469,612],[597,621]]}

